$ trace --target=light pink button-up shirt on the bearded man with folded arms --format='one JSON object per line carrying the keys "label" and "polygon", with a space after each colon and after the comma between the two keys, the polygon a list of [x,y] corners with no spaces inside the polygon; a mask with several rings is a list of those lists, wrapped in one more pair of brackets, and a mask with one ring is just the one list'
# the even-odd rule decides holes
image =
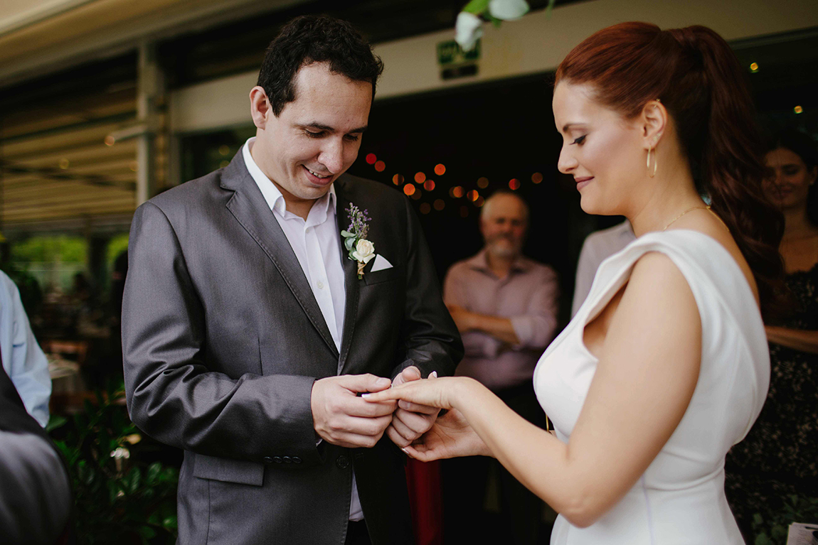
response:
{"label": "light pink button-up shirt on the bearded man with folded arms", "polygon": [[542,351],[554,338],[560,287],[550,266],[519,257],[499,279],[486,251],[455,263],[443,283],[443,301],[482,315],[509,318],[519,344],[509,346],[488,333],[463,333],[465,357],[456,374],[473,377],[493,391],[530,382]]}

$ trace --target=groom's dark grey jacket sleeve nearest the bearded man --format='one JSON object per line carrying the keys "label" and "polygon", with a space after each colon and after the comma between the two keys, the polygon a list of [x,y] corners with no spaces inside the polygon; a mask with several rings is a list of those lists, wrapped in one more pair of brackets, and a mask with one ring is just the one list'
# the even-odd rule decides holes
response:
{"label": "groom's dark grey jacket sleeve nearest the bearded man", "polygon": [[402,203],[407,217],[407,296],[400,363],[393,369],[392,377],[411,365],[420,369],[424,377],[433,371],[439,376],[452,375],[463,357],[463,343],[443,304],[434,261],[420,221],[409,201],[402,199]]}

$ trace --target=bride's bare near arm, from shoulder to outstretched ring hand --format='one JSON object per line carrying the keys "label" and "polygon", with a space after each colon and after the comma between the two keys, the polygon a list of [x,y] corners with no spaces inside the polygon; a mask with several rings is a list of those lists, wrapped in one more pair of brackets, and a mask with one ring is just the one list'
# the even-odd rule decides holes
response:
{"label": "bride's bare near arm, from shoulder to outstretched ring hand", "polygon": [[649,253],[637,261],[613,315],[569,444],[519,417],[478,382],[435,379],[417,391],[437,391],[429,397],[459,409],[520,482],[573,525],[587,526],[636,484],[676,429],[699,377],[700,355],[693,294],[668,257]]}

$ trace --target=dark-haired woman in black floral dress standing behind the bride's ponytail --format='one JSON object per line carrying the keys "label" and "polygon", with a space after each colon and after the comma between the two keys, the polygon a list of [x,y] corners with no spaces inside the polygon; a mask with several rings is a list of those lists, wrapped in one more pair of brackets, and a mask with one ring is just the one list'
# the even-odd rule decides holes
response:
{"label": "dark-haired woman in black floral dress standing behind the bride's ponytail", "polygon": [[766,192],[784,212],[779,249],[794,312],[766,327],[770,391],[747,438],[727,455],[727,498],[750,543],[756,513],[769,522],[792,494],[818,498],[818,149],[787,130],[765,159]]}

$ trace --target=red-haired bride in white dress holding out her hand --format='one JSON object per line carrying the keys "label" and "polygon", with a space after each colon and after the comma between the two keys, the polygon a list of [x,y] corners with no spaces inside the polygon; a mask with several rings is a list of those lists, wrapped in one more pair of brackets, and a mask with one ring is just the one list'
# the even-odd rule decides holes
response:
{"label": "red-haired bride in white dress holding out her hand", "polygon": [[710,29],[625,23],[569,53],[553,107],[582,209],[639,237],[537,364],[555,436],[467,377],[366,399],[450,409],[406,452],[496,457],[560,513],[552,544],[743,543],[724,457],[764,403],[783,221],[742,71]]}

